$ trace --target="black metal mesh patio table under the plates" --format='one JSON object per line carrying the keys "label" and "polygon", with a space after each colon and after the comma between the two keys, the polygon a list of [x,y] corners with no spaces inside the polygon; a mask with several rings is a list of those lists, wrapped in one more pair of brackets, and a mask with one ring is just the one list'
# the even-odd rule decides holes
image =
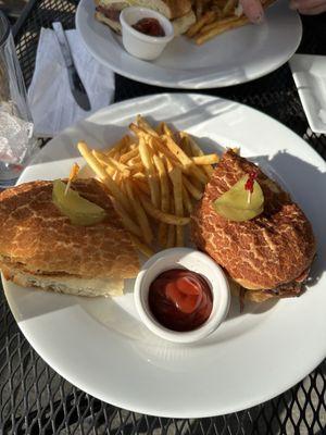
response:
{"label": "black metal mesh patio table under the plates", "polygon": [[[15,25],[27,86],[40,27],[58,20],[66,28],[74,27],[76,3],[30,1]],[[326,16],[305,17],[303,27],[299,51],[326,54]],[[116,76],[115,100],[166,90]],[[308,127],[288,65],[246,85],[204,92],[240,101],[274,116],[326,159],[326,137]],[[0,434],[326,434],[325,394],[326,360],[284,395],[234,414],[177,420],[118,409],[77,389],[50,369],[26,341],[0,294]]]}

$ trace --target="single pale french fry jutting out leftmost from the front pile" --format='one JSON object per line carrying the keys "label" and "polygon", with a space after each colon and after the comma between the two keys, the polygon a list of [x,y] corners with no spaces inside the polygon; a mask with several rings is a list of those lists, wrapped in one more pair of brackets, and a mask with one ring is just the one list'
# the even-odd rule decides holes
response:
{"label": "single pale french fry jutting out leftmost from the front pile", "polygon": [[80,154],[90,165],[92,171],[97,174],[100,181],[109,188],[111,195],[115,198],[117,202],[121,202],[126,211],[130,211],[130,203],[128,198],[121,191],[118,185],[114,182],[112,176],[104,170],[104,167],[97,161],[92,156],[91,151],[88,149],[87,145],[83,141],[77,145]]}

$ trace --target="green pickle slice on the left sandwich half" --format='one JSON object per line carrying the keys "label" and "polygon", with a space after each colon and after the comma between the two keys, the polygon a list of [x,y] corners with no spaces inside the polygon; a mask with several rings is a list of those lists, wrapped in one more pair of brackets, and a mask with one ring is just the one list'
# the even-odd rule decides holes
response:
{"label": "green pickle slice on the left sandwich half", "polygon": [[80,197],[80,195],[68,189],[64,195],[66,184],[61,179],[53,182],[52,201],[67,216],[73,225],[95,225],[105,217],[105,210],[101,207]]}

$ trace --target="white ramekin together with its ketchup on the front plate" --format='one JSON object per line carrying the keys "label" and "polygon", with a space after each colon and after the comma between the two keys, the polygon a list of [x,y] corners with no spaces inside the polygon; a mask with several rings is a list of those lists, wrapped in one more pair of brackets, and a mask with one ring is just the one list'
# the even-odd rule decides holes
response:
{"label": "white ramekin together with its ketchup on the front plate", "polygon": [[226,318],[229,301],[223,270],[205,253],[189,248],[156,253],[143,264],[135,284],[141,321],[174,343],[210,335]]}

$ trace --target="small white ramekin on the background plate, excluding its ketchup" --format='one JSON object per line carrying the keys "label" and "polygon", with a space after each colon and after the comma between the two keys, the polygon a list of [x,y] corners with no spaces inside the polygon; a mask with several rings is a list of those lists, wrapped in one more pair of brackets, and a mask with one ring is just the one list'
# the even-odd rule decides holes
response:
{"label": "small white ramekin on the background plate, excluding its ketchup", "polygon": [[[154,37],[136,30],[133,25],[141,18],[156,18],[165,32],[165,36]],[[171,22],[159,12],[147,8],[125,8],[121,15],[123,45],[128,53],[136,58],[151,61],[162,53],[167,42],[174,37]]]}

